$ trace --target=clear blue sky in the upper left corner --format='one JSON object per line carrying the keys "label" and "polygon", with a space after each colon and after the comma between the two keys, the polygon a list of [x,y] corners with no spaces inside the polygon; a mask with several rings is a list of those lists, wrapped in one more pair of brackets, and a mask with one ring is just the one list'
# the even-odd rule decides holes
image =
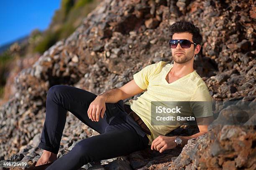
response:
{"label": "clear blue sky in the upper left corner", "polygon": [[48,28],[60,3],[61,0],[0,1],[0,46],[26,36],[36,28]]}

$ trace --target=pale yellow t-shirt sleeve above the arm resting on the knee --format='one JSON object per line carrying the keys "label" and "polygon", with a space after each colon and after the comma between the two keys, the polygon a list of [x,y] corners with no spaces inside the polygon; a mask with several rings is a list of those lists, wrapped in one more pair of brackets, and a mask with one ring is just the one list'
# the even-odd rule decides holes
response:
{"label": "pale yellow t-shirt sleeve above the arm resting on the knee", "polygon": [[155,70],[157,69],[159,65],[158,63],[147,65],[139,72],[135,73],[133,75],[133,79],[136,82],[136,84],[143,90],[146,90],[148,87],[149,79],[151,75],[154,74]]}

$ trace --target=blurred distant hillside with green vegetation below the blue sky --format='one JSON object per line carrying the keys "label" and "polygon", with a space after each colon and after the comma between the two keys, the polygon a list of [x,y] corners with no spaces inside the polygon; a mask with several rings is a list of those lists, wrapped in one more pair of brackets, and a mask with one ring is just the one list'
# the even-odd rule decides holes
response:
{"label": "blurred distant hillside with green vegetation below the blue sky", "polygon": [[[31,66],[57,41],[71,35],[100,0],[61,0],[60,3],[46,30],[35,29],[30,35],[0,47],[0,106],[15,94],[13,77],[27,65]],[[28,64],[24,63],[28,60]]]}

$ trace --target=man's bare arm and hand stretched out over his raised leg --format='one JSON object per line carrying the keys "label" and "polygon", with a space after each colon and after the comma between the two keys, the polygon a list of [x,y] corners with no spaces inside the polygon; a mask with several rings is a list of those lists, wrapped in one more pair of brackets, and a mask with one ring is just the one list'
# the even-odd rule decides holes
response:
{"label": "man's bare arm and hand stretched out over his raised leg", "polygon": [[137,95],[144,90],[141,89],[134,80],[126,83],[122,87],[108,90],[101,95],[98,95],[93,100],[87,110],[88,117],[92,121],[99,121],[100,117],[103,118],[106,110],[105,103],[116,103],[119,100],[124,100],[134,95]]}

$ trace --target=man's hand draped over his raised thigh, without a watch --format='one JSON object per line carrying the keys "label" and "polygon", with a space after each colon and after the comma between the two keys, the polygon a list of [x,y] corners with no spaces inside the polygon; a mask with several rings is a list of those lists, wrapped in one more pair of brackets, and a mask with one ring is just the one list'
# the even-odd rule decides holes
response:
{"label": "man's hand draped over his raised thigh, without a watch", "polygon": [[87,110],[88,117],[92,121],[99,121],[100,117],[103,118],[103,115],[106,110],[105,97],[97,96],[95,100],[93,100]]}

